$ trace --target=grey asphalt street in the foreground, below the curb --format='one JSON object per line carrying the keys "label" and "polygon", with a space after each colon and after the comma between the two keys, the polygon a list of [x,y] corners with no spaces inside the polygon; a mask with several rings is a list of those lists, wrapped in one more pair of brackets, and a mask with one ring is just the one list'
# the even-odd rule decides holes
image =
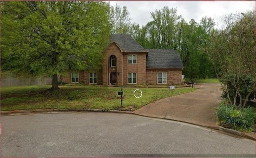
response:
{"label": "grey asphalt street in the foreground, below the curb", "polygon": [[1,116],[1,157],[255,157],[255,141],[132,114]]}

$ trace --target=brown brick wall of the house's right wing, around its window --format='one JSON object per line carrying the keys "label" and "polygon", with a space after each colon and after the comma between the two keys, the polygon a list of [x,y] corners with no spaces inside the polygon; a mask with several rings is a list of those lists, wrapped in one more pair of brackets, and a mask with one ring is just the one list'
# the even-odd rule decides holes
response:
{"label": "brown brick wall of the house's right wing, around its window", "polygon": [[158,72],[167,72],[167,84],[182,83],[182,69],[146,69],[146,84],[157,84]]}

